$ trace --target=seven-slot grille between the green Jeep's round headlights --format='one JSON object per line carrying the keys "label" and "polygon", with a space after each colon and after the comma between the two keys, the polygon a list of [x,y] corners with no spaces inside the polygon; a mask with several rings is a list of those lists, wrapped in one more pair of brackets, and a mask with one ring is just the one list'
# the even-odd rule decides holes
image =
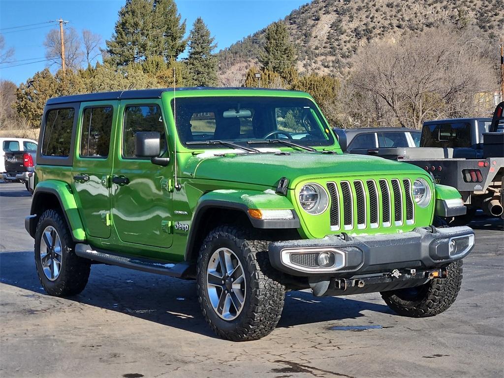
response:
{"label": "seven-slot grille between the green Jeep's round headlights", "polygon": [[414,223],[411,181],[407,178],[331,181],[327,190],[333,231]]}

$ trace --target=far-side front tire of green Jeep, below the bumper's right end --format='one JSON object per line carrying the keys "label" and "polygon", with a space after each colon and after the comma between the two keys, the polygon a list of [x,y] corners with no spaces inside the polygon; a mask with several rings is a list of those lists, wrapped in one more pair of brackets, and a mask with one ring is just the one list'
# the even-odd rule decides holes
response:
{"label": "far-side front tire of green Jeep, below the bumper's right end", "polygon": [[382,298],[399,315],[433,317],[446,311],[457,299],[462,284],[462,260],[448,265],[446,278],[433,278],[421,286],[383,291]]}

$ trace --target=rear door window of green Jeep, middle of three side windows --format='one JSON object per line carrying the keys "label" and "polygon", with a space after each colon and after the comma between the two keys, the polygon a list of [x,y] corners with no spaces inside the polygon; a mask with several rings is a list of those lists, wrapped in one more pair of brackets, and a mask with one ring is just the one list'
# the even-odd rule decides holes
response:
{"label": "rear door window of green Jeep, middle of three side windows", "polygon": [[111,106],[84,109],[79,152],[81,157],[105,159],[108,156],[113,113]]}

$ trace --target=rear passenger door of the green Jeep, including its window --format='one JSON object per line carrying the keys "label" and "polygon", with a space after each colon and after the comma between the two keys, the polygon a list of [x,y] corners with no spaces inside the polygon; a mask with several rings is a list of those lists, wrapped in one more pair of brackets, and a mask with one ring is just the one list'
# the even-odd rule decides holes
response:
{"label": "rear passenger door of the green Jeep, including its window", "polygon": [[88,235],[110,236],[111,133],[117,101],[83,103],[79,109],[72,188]]}

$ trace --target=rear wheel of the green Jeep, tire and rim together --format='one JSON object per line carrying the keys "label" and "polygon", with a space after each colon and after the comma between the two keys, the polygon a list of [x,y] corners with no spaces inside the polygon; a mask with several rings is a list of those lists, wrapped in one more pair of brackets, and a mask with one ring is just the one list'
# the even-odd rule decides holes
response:
{"label": "rear wheel of the green Jeep, tire and rim together", "polygon": [[40,283],[49,295],[76,295],[88,282],[91,263],[75,254],[67,223],[55,210],[46,210],[38,221],[35,266]]}

